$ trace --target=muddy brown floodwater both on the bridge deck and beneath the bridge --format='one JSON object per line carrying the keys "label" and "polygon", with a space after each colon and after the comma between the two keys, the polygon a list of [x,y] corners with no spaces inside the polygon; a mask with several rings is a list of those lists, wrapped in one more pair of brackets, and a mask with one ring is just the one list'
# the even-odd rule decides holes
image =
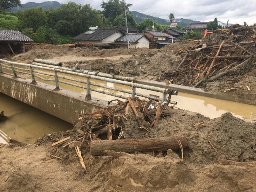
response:
{"label": "muddy brown floodwater both on the bridge deck and beneath the bridge", "polygon": [[[38,70],[38,69],[37,69]],[[46,72],[46,70],[41,70]],[[69,74],[60,74],[66,77],[74,78],[73,75]],[[31,79],[29,75],[18,74],[28,79]],[[45,75],[42,75],[44,78],[48,78]],[[52,77],[50,77],[52,78]],[[84,77],[76,77],[76,79],[86,81]],[[60,80],[60,79],[59,79]],[[36,78],[36,81],[44,82],[47,84],[55,85],[55,82],[43,81]],[[62,80],[71,82],[69,80]],[[110,82],[103,82],[91,79],[92,82],[103,84],[105,86],[115,87],[119,89],[131,90],[131,87],[124,86],[120,84],[113,84]],[[72,82],[82,86],[86,84]],[[59,83],[60,89],[69,89],[78,93],[84,94],[86,97],[86,89],[79,87],[70,86],[67,84]],[[101,87],[91,86],[94,89],[108,91],[110,93],[119,93],[118,91],[113,91]],[[136,89],[136,92],[143,94],[153,94],[162,97],[162,93],[157,93],[154,91]],[[123,96],[130,96],[129,94],[122,93]],[[91,96],[106,101],[112,99],[117,99],[113,96],[106,94],[101,94],[98,92],[91,91]],[[72,127],[70,123],[67,123],[63,120],[60,120],[52,115],[44,113],[43,111],[37,110],[29,105],[26,105],[22,102],[19,102],[15,99],[9,98],[0,94],[0,110],[5,111],[5,115],[9,117],[6,122],[0,123],[0,143],[8,141],[8,138],[17,139],[26,143],[33,143],[38,137],[41,137],[43,134],[50,134],[52,132],[67,130]],[[124,99],[120,99],[124,100]],[[255,122],[256,120],[256,106],[246,105],[242,103],[235,103],[232,101],[225,101],[221,99],[208,98],[204,96],[198,96],[193,94],[179,93],[178,96],[172,96],[172,100],[177,101],[178,104],[175,106],[180,109],[194,111],[201,113],[202,115],[209,118],[220,117],[223,113],[231,112],[235,117],[242,118],[248,122]],[[2,102],[3,101],[3,102]]]}

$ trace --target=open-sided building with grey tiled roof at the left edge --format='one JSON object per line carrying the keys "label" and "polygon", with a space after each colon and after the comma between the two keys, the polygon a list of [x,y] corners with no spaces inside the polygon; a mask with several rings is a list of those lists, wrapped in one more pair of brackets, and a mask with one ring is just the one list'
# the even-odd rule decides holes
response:
{"label": "open-sided building with grey tiled roof at the left edge", "polygon": [[33,41],[17,30],[0,29],[0,44],[8,46],[12,53],[25,53],[25,43]]}

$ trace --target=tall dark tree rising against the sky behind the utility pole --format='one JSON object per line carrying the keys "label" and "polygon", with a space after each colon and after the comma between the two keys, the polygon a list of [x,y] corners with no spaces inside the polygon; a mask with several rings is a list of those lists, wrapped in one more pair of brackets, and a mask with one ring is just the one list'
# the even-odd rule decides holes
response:
{"label": "tall dark tree rising against the sky behind the utility pole", "polygon": [[125,10],[129,10],[129,7],[132,6],[130,3],[125,3],[124,0],[108,0],[107,2],[101,2],[101,8],[103,10],[103,15],[109,19],[110,22],[113,22],[115,17],[120,14],[124,15]]}

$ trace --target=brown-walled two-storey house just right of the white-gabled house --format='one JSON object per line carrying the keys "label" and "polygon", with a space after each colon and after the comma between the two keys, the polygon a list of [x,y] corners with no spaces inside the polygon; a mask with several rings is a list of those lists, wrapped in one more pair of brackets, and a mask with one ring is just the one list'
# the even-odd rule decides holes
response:
{"label": "brown-walled two-storey house just right of the white-gabled house", "polygon": [[155,43],[155,48],[158,49],[177,40],[177,38],[161,31],[146,30],[145,35]]}

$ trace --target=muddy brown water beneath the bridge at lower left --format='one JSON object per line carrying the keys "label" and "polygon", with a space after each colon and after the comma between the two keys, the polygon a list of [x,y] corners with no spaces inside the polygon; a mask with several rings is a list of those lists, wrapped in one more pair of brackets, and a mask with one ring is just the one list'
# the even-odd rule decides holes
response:
{"label": "muddy brown water beneath the bridge at lower left", "polygon": [[43,134],[72,129],[72,124],[2,93],[0,110],[8,117],[0,122],[0,143],[12,138],[31,144]]}

